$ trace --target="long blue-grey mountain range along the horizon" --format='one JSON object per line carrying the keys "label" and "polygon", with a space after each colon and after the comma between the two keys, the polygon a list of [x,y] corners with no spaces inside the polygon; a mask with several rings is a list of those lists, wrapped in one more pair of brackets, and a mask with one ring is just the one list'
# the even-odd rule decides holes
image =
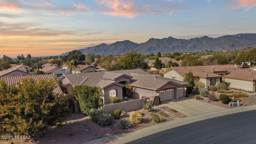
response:
{"label": "long blue-grey mountain range along the horizon", "polygon": [[[150,38],[147,42],[137,44],[131,41],[115,42],[113,44],[100,44],[92,47],[80,49],[84,54],[124,54],[131,50],[143,54],[150,53],[172,53],[172,52],[197,52],[197,51],[222,51],[234,50],[245,47],[256,46],[256,34],[237,34],[226,35],[218,38],[211,38],[207,36],[191,38],[191,39],[178,39],[173,37],[168,38]],[[67,53],[65,53],[67,54]]]}

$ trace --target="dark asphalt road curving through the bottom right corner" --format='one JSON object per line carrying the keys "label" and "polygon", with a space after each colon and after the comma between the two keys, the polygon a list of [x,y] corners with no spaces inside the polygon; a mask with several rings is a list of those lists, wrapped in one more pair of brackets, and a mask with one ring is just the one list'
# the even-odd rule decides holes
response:
{"label": "dark asphalt road curving through the bottom right corner", "polygon": [[130,143],[255,144],[256,110],[175,127]]}

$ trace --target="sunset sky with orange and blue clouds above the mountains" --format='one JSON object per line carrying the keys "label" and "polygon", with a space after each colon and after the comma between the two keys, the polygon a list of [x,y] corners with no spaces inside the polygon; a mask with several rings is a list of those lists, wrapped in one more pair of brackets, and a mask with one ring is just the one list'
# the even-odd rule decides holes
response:
{"label": "sunset sky with orange and blue clouds above the mountains", "polygon": [[0,0],[0,57],[256,33],[256,0]]}

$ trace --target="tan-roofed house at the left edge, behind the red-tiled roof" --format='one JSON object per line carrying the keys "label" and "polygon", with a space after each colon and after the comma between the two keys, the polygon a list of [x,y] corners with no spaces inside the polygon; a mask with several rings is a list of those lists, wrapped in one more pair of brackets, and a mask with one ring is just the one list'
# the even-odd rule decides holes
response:
{"label": "tan-roofed house at the left edge, behind the red-tiled roof", "polygon": [[30,75],[30,69],[25,65],[17,65],[12,68],[0,71],[1,76],[17,76],[17,75]]}

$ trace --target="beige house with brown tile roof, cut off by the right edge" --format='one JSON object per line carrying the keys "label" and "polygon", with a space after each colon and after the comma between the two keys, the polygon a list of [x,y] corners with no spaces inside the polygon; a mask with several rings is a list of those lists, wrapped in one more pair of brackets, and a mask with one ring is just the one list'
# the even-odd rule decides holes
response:
{"label": "beige house with brown tile roof, cut off by the right edge", "polygon": [[238,69],[224,76],[224,81],[231,88],[255,92],[256,71],[251,69]]}

